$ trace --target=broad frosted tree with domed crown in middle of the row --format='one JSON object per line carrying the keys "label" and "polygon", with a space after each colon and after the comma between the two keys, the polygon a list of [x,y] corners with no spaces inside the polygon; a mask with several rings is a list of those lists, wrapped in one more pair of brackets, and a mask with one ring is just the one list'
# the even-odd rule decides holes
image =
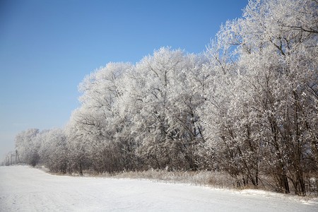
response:
{"label": "broad frosted tree with domed crown in middle of the row", "polygon": [[[201,139],[196,107],[203,102],[204,58],[163,47],[126,76],[132,133],[139,155],[153,168],[196,169],[194,146]],[[200,78],[201,77],[201,78]]]}

